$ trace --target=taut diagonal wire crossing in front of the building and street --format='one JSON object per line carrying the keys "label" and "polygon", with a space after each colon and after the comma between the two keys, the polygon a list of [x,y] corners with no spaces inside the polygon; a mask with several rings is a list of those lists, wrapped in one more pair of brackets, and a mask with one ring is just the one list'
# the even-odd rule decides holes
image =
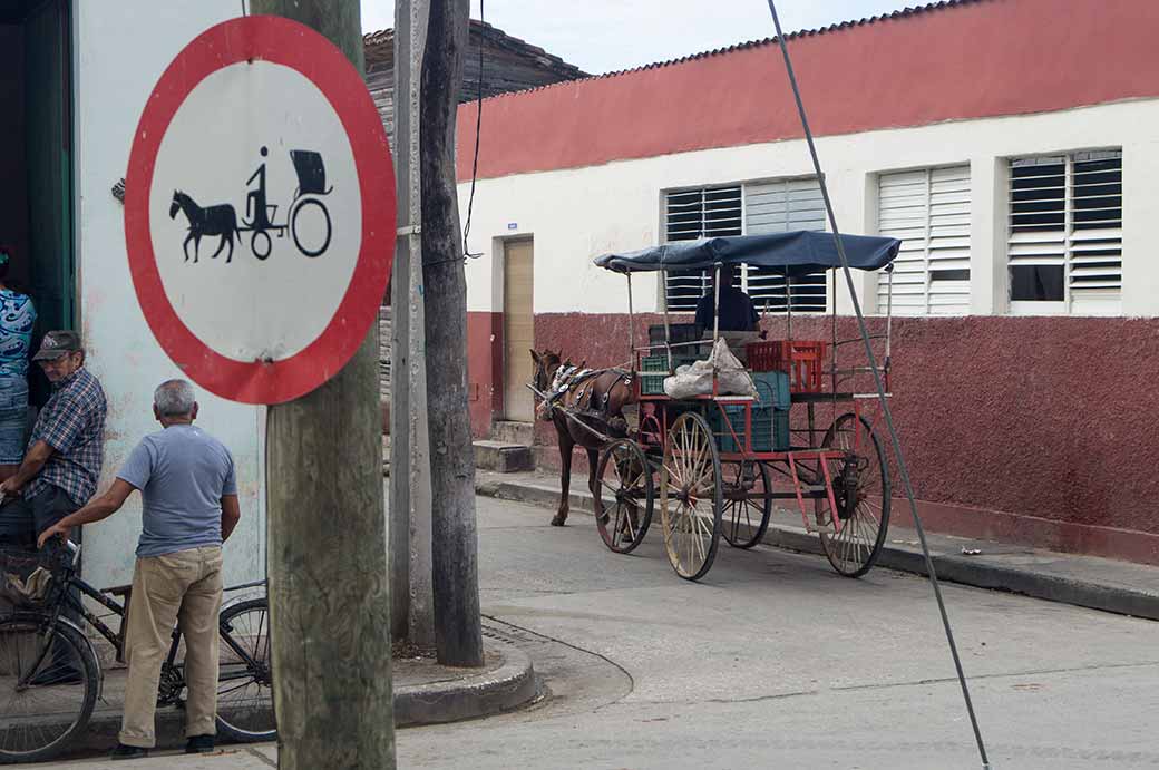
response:
{"label": "taut diagonal wire crossing in front of the building and street", "polygon": [[777,44],[781,49],[781,55],[785,58],[785,71],[789,78],[789,86],[793,88],[793,99],[796,101],[797,114],[801,116],[801,128],[804,131],[806,143],[809,146],[809,154],[812,158],[812,167],[817,174],[817,181],[821,183],[821,196],[825,203],[825,213],[829,217],[830,227],[833,231],[833,241],[837,246],[837,256],[841,262],[841,273],[845,275],[845,283],[850,291],[850,299],[853,302],[853,311],[857,313],[858,328],[861,332],[861,341],[865,344],[866,357],[869,361],[869,368],[873,371],[874,384],[877,388],[877,399],[881,402],[882,416],[885,421],[885,428],[889,430],[890,444],[894,448],[894,456],[897,458],[897,470],[902,478],[902,485],[905,488],[906,500],[910,502],[910,514],[913,516],[913,525],[918,532],[918,540],[921,543],[921,554],[925,558],[926,572],[930,575],[930,582],[934,589],[934,597],[938,600],[938,610],[941,613],[942,627],[946,630],[946,641],[949,645],[950,656],[954,659],[954,668],[957,670],[957,681],[962,687],[962,698],[965,700],[965,710],[970,715],[970,726],[974,728],[974,739],[978,746],[978,755],[982,758],[983,770],[990,769],[990,760],[986,756],[986,746],[982,740],[982,731],[978,727],[978,718],[974,713],[974,702],[970,699],[970,688],[965,682],[965,673],[962,669],[962,660],[957,653],[957,645],[954,642],[954,631],[950,627],[949,615],[946,612],[946,602],[941,595],[941,587],[938,583],[938,573],[934,571],[933,559],[930,557],[930,546],[926,543],[925,528],[921,525],[921,518],[918,516],[918,507],[914,502],[913,485],[910,481],[910,471],[905,464],[905,456],[902,453],[902,444],[897,437],[897,430],[894,428],[894,415],[889,408],[889,400],[885,398],[885,386],[882,382],[881,369],[877,366],[876,356],[873,353],[873,344],[870,343],[869,329],[866,326],[865,315],[861,313],[861,302],[858,299],[857,288],[853,283],[853,273],[850,270],[850,261],[845,254],[845,246],[841,244],[841,232],[837,226],[837,215],[833,212],[833,203],[829,197],[829,184],[825,182],[825,175],[821,170],[821,159],[817,155],[817,145],[812,139],[812,131],[809,128],[809,117],[806,114],[804,102],[801,100],[801,88],[797,85],[796,73],[793,71],[793,59],[789,57],[789,49],[785,42],[785,32],[781,30],[781,21],[777,15],[777,2],[775,0],[768,1],[768,10],[773,15],[773,26],[777,28]]}

